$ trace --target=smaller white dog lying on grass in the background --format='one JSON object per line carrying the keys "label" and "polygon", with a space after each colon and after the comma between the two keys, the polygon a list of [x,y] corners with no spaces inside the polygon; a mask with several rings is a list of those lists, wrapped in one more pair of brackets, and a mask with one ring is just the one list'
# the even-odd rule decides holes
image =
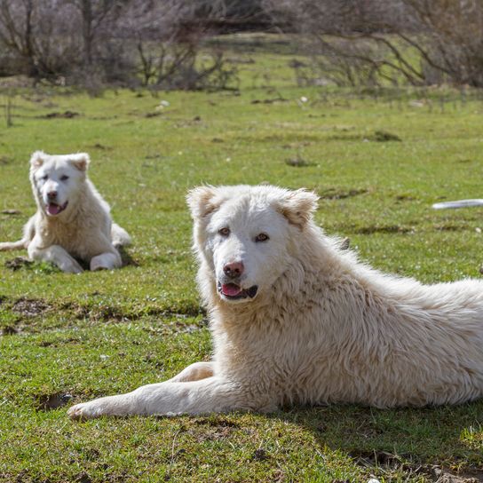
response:
{"label": "smaller white dog lying on grass in the background", "polygon": [[28,249],[32,260],[44,260],[68,273],[80,273],[77,259],[91,270],[122,265],[116,248],[130,236],[112,222],[109,205],[87,178],[89,155],[50,155],[36,151],[30,159],[30,182],[36,214],[24,226],[22,240],[0,243],[0,250]]}

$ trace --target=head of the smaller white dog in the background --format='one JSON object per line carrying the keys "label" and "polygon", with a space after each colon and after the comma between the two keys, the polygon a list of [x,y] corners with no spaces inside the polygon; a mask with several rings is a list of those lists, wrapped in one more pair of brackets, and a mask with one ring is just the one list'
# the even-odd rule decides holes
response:
{"label": "head of the smaller white dog in the background", "polygon": [[30,182],[36,202],[48,217],[59,217],[75,205],[85,182],[89,154],[50,155],[36,151],[30,158]]}

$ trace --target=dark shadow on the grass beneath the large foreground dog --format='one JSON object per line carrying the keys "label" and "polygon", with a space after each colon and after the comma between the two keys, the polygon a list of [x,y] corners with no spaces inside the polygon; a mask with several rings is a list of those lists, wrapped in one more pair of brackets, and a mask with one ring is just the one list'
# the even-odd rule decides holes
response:
{"label": "dark shadow on the grass beneath the large foreground dog", "polygon": [[321,453],[343,452],[385,479],[402,473],[405,479],[483,481],[483,400],[438,408],[294,408],[270,417],[303,426]]}

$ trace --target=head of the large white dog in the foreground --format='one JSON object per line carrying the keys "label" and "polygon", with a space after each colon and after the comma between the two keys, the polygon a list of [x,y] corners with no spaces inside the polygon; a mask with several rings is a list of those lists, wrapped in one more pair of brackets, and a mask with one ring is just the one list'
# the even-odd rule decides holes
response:
{"label": "head of the large white dog in the foreground", "polygon": [[188,194],[194,249],[222,300],[247,302],[273,287],[317,199],[275,186],[201,186]]}

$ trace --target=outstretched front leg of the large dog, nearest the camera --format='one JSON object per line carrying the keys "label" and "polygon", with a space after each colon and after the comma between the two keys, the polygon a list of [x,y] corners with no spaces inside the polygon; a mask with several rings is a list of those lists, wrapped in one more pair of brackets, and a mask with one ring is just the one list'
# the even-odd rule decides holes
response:
{"label": "outstretched front leg of the large dog, nearest the camera", "polygon": [[77,404],[68,410],[73,419],[127,415],[200,415],[234,409],[274,410],[260,404],[252,392],[213,376],[187,383],[148,384],[133,392]]}

